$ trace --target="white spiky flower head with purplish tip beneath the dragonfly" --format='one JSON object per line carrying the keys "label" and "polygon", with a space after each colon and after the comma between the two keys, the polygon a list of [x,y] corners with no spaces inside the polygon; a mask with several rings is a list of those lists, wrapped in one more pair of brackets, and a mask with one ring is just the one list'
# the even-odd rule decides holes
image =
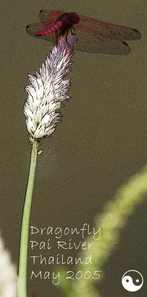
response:
{"label": "white spiky flower head with purplish tip beneath the dragonfly", "polygon": [[65,37],[61,37],[58,43],[53,45],[49,57],[39,67],[36,75],[28,74],[31,85],[25,87],[28,93],[23,112],[26,116],[26,126],[29,132],[29,140],[40,141],[43,137],[49,137],[61,121],[63,101],[71,97],[67,95],[71,85],[71,79],[64,77],[72,70],[71,58],[73,56],[73,35],[68,35],[68,43]]}

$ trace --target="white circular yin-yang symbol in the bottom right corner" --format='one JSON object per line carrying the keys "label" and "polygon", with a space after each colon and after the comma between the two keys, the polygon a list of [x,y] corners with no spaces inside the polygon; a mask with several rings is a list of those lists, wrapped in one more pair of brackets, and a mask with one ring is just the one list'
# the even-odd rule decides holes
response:
{"label": "white circular yin-yang symbol in the bottom right corner", "polygon": [[137,270],[129,270],[122,277],[122,286],[129,292],[140,290],[143,282],[143,277]]}

